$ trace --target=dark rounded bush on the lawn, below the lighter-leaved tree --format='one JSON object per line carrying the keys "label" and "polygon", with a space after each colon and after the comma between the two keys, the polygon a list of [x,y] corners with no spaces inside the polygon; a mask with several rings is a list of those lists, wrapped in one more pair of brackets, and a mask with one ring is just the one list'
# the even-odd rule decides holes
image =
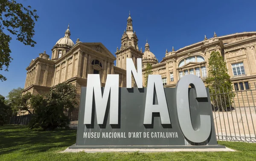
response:
{"label": "dark rounded bush on the lawn, below the lighter-leaved tree", "polygon": [[35,109],[35,114],[29,121],[29,128],[41,127],[43,130],[55,130],[56,128],[68,128],[70,120],[64,114],[63,104],[56,100],[42,101],[42,104]]}

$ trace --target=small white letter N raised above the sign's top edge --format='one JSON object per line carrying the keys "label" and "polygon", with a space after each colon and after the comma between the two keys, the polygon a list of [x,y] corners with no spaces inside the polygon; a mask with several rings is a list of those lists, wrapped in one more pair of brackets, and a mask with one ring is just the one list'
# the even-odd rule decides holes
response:
{"label": "small white letter N raised above the sign's top edge", "polygon": [[[137,72],[138,71],[138,72]],[[131,88],[131,72],[134,76],[134,80],[138,88],[143,88],[142,86],[142,61],[141,58],[137,58],[137,71],[132,61],[132,58],[126,59],[126,87]]]}

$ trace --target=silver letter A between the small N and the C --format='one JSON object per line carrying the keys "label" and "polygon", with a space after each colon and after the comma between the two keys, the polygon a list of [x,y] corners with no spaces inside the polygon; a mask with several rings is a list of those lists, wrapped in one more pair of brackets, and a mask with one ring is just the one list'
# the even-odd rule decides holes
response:
{"label": "silver letter A between the small N and the C", "polygon": [[[158,104],[153,104],[154,87]],[[159,112],[161,124],[171,124],[161,75],[148,75],[144,124],[152,124],[152,112]]]}

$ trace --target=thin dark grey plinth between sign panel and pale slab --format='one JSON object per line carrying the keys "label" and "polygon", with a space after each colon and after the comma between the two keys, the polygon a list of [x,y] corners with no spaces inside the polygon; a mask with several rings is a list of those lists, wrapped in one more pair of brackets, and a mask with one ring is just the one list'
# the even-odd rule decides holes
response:
{"label": "thin dark grey plinth between sign panel and pale slab", "polygon": [[204,146],[189,146],[189,145],[172,145],[172,146],[76,146],[73,144],[68,149],[225,149],[223,145],[204,145]]}

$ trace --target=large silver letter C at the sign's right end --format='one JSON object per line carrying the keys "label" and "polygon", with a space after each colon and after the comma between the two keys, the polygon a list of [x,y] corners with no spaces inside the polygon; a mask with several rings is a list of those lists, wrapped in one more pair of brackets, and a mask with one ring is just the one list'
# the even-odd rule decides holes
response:
{"label": "large silver letter C at the sign's right end", "polygon": [[183,135],[194,143],[201,143],[207,140],[211,132],[211,118],[209,115],[200,115],[200,124],[194,130],[191,123],[189,110],[189,85],[195,88],[197,98],[207,98],[204,82],[196,75],[185,75],[176,84],[177,113],[180,129]]}

